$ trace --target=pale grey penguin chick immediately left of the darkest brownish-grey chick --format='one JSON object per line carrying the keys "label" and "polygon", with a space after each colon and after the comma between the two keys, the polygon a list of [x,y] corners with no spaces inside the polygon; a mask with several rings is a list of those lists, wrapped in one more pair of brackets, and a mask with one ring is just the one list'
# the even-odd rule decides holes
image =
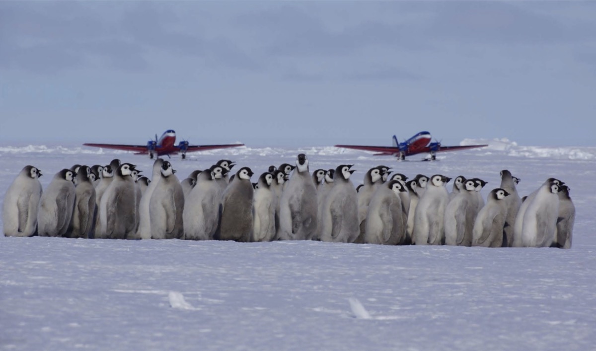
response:
{"label": "pale grey penguin chick immediately left of the darkest brownish-grey chick", "polygon": [[218,229],[219,204],[222,198],[222,189],[217,180],[223,174],[223,168],[218,165],[212,165],[198,174],[197,184],[184,200],[184,239],[213,239]]}

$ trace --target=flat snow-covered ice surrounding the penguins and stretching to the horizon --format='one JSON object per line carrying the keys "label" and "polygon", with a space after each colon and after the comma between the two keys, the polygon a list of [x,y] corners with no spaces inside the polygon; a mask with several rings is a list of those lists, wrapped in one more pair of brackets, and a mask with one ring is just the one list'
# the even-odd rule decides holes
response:
{"label": "flat snow-covered ice surrounding the penguins and stretching to the horizon", "polygon": [[[500,183],[521,196],[565,181],[577,214],[571,250],[181,240],[0,237],[0,348],[7,350],[594,350],[596,147],[485,149],[397,162],[335,147],[216,150],[172,158],[179,178],[218,159],[257,176],[308,155],[311,171],[385,164]],[[412,156],[416,161],[423,157]],[[0,194],[24,165],[48,185],[61,168],[153,161],[113,150],[0,145]],[[448,184],[451,190],[452,184]]]}

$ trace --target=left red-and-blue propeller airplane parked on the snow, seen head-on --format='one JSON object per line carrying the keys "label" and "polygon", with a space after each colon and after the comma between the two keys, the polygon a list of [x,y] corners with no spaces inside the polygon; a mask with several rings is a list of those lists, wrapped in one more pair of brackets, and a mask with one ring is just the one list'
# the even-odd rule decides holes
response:
{"label": "left red-and-blue propeller airplane parked on the snow, seen head-on", "polygon": [[238,147],[244,146],[244,144],[220,144],[220,145],[190,145],[188,141],[183,140],[176,143],[176,132],[174,130],[166,130],[162,137],[159,139],[157,138],[157,134],[155,135],[155,140],[147,141],[146,145],[125,145],[125,144],[94,144],[94,143],[85,143],[85,146],[93,146],[93,147],[104,147],[105,149],[116,149],[116,150],[126,150],[126,151],[135,151],[135,155],[145,155],[149,154],[149,158],[153,159],[155,155],[162,156],[167,155],[176,155],[181,153],[182,159],[186,158],[187,152],[195,152],[195,151],[204,151],[204,150],[215,150],[215,149],[226,149],[228,147]]}

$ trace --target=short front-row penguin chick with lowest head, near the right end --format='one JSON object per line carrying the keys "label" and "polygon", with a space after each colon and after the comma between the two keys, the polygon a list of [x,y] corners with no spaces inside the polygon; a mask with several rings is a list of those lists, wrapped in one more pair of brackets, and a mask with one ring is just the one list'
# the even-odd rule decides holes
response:
{"label": "short front-row penguin chick with lowest head, near the right end", "polygon": [[488,195],[486,205],[482,207],[472,230],[472,246],[502,247],[503,227],[507,217],[507,190],[496,188]]}

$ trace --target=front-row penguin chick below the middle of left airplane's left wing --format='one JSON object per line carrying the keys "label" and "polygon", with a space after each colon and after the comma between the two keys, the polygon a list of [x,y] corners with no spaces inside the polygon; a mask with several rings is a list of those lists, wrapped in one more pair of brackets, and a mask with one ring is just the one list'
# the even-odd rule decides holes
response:
{"label": "front-row penguin chick below the middle of left airplane's left wing", "polygon": [[136,189],[132,178],[135,166],[120,164],[114,180],[105,189],[100,202],[100,222],[103,232],[95,233],[95,238],[126,239],[134,237],[137,228]]}

